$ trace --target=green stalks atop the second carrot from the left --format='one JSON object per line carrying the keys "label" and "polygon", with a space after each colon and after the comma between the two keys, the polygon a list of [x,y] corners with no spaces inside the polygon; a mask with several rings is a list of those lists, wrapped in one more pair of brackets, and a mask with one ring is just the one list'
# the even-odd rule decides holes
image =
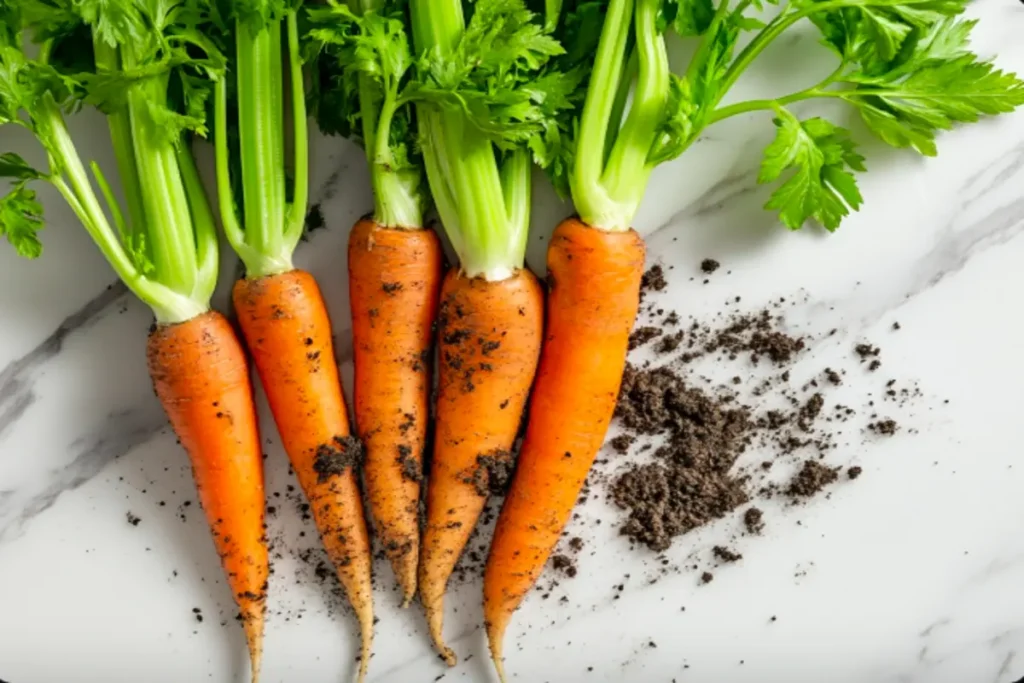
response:
{"label": "green stalks atop the second carrot from the left", "polygon": [[[203,31],[227,55],[213,102],[220,217],[249,278],[293,268],[309,194],[309,140],[298,4],[194,0]],[[286,109],[291,108],[291,120]],[[293,173],[285,161],[292,133]]]}

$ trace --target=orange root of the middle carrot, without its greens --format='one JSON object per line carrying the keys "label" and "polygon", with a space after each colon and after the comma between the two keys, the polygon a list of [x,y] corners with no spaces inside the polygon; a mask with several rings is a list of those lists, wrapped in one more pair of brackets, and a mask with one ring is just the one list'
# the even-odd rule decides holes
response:
{"label": "orange root of the middle carrot, without its greens", "polygon": [[416,594],[420,482],[441,249],[428,229],[355,224],[348,240],[355,423],[375,528],[402,591]]}

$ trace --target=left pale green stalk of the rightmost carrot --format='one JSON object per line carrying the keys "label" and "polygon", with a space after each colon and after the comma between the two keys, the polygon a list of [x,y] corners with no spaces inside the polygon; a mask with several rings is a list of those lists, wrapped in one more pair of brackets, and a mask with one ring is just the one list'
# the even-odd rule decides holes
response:
{"label": "left pale green stalk of the rightmost carrot", "polygon": [[[613,134],[609,129],[614,126],[617,130],[618,126],[617,121],[611,121],[611,115],[615,111],[620,80],[624,75],[633,3],[634,0],[611,0],[608,4],[591,75],[592,86],[587,88],[580,120],[575,164],[570,177],[572,201],[580,217],[587,224],[600,227],[609,222],[607,216],[616,213],[614,202],[601,177],[605,168],[605,141],[609,134]],[[611,219],[610,222],[621,221]]]}

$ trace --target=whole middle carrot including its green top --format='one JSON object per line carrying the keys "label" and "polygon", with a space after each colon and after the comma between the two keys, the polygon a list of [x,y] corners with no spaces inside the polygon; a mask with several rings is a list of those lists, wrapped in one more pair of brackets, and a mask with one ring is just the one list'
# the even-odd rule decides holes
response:
{"label": "whole middle carrot including its green top", "polygon": [[[412,139],[413,108],[400,99],[413,60],[397,3],[333,2],[309,15],[317,123],[362,142],[374,186],[373,216],[358,221],[348,239],[355,424],[366,449],[374,528],[407,606],[417,589],[442,261],[436,233],[423,227],[422,158]],[[356,51],[360,58],[353,58]],[[356,92],[346,92],[352,80]],[[361,127],[353,130],[354,120]]]}

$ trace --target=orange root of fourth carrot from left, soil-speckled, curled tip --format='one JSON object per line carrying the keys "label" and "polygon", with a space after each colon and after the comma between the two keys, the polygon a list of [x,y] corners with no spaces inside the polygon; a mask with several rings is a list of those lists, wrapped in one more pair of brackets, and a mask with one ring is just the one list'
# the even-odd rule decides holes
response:
{"label": "orange root of fourth carrot from left, soil-speckled, curled tip", "polygon": [[528,270],[488,282],[453,269],[444,279],[420,599],[431,638],[450,666],[456,659],[441,633],[444,588],[486,502],[487,472],[480,458],[510,457],[542,331],[543,294]]}

